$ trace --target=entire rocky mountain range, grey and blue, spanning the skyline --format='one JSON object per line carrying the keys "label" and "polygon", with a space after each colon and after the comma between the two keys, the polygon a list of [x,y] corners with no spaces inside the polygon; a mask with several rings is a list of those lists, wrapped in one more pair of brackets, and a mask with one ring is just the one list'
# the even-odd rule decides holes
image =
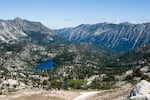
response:
{"label": "entire rocky mountain range, grey and blue, spanning the skyline", "polygon": [[91,43],[115,51],[127,51],[150,43],[150,23],[99,23],[82,24],[77,27],[51,30],[40,22],[15,18],[0,20],[0,42],[32,41],[49,43]]}

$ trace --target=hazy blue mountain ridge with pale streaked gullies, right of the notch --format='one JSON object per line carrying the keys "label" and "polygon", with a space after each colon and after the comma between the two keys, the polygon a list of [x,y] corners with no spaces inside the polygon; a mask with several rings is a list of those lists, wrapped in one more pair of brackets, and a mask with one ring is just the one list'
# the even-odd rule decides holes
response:
{"label": "hazy blue mountain ridge with pale streaked gullies, right of the notch", "polygon": [[150,23],[82,24],[74,28],[55,30],[55,32],[70,41],[92,42],[116,51],[126,51],[150,43]]}

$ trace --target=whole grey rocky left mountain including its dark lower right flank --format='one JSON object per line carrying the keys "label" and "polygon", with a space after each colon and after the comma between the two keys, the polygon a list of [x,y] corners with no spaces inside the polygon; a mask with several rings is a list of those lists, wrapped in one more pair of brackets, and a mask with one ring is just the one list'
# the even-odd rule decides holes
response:
{"label": "whole grey rocky left mountain including its dark lower right flank", "polygon": [[0,20],[0,42],[32,41],[34,43],[51,43],[63,41],[54,32],[40,22],[32,22],[15,18],[14,20]]}

